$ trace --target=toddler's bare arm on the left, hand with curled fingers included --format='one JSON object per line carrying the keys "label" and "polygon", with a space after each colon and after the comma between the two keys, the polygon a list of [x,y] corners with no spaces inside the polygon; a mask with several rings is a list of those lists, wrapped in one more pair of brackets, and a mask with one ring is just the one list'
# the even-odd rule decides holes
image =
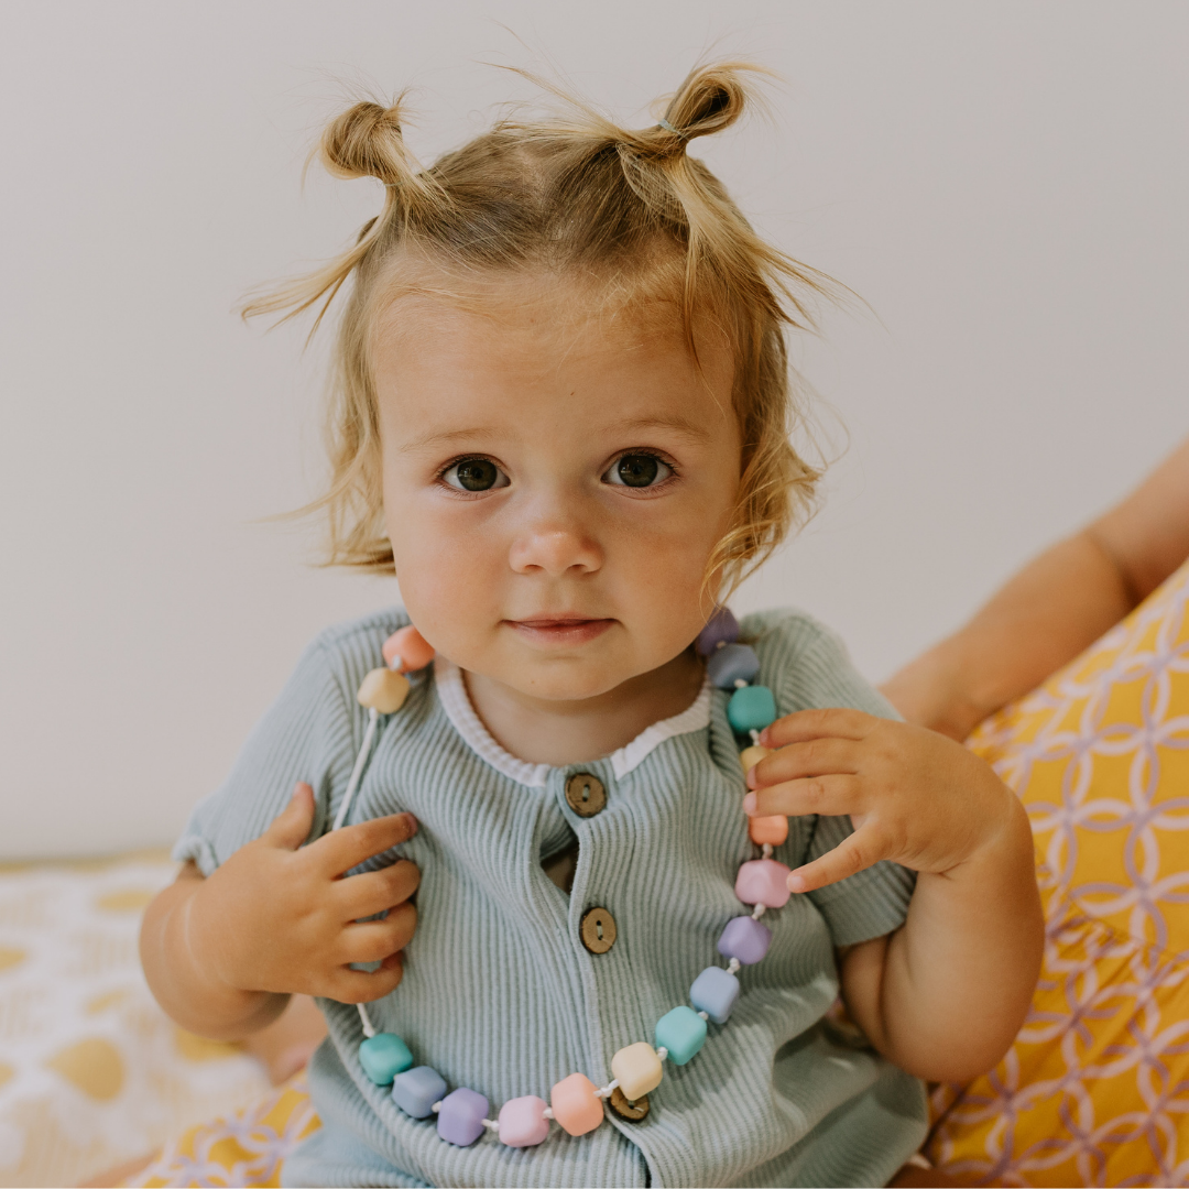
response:
{"label": "toddler's bare arm on the left, hand with curled fingers included", "polygon": [[[157,1001],[191,1032],[237,1040],[273,1020],[301,992],[346,1004],[386,995],[401,981],[401,950],[416,926],[408,899],[420,873],[400,861],[342,873],[407,842],[409,813],[346,826],[303,847],[314,793],[289,806],[209,879],[188,863],[149,906],[140,960]],[[383,920],[360,920],[388,910]],[[382,962],[353,970],[353,962]]]}

